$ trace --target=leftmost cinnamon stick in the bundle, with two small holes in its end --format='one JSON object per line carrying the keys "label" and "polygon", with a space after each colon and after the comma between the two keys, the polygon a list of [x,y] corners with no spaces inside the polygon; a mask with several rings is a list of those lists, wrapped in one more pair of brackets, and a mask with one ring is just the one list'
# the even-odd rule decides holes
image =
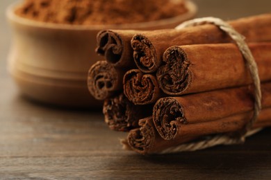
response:
{"label": "leftmost cinnamon stick in the bundle, with two small holes in its end", "polygon": [[105,100],[122,89],[124,70],[98,61],[88,71],[88,90],[97,100]]}

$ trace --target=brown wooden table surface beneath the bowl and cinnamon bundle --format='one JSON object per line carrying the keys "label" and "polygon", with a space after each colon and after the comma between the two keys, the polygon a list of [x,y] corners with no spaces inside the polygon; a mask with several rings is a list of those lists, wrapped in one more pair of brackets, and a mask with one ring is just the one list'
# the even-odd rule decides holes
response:
{"label": "brown wooden table surface beneath the bowl and cinnamon bundle", "polygon": [[[224,19],[271,7],[269,0],[196,2],[199,17]],[[0,2],[0,179],[271,179],[270,128],[245,145],[142,156],[122,150],[126,134],[109,130],[101,111],[56,109],[20,96],[6,72],[9,3]]]}

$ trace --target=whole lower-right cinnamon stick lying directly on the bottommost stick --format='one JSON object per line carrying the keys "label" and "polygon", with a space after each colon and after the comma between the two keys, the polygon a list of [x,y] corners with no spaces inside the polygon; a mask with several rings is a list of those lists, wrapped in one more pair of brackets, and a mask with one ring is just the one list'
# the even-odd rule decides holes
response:
{"label": "whole lower-right cinnamon stick lying directly on the bottommost stick", "polygon": [[[271,107],[271,83],[261,84],[262,107]],[[252,87],[239,87],[161,98],[154,105],[154,125],[162,138],[174,139],[185,124],[204,123],[254,109]]]}

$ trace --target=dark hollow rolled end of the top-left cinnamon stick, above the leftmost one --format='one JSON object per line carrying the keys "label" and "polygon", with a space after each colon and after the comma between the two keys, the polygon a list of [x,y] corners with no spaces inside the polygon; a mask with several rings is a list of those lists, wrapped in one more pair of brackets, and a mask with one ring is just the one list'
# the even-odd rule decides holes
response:
{"label": "dark hollow rolled end of the top-left cinnamon stick, above the leftmost one", "polygon": [[122,58],[122,39],[111,30],[103,30],[97,35],[96,53],[104,55],[111,64],[119,64]]}

